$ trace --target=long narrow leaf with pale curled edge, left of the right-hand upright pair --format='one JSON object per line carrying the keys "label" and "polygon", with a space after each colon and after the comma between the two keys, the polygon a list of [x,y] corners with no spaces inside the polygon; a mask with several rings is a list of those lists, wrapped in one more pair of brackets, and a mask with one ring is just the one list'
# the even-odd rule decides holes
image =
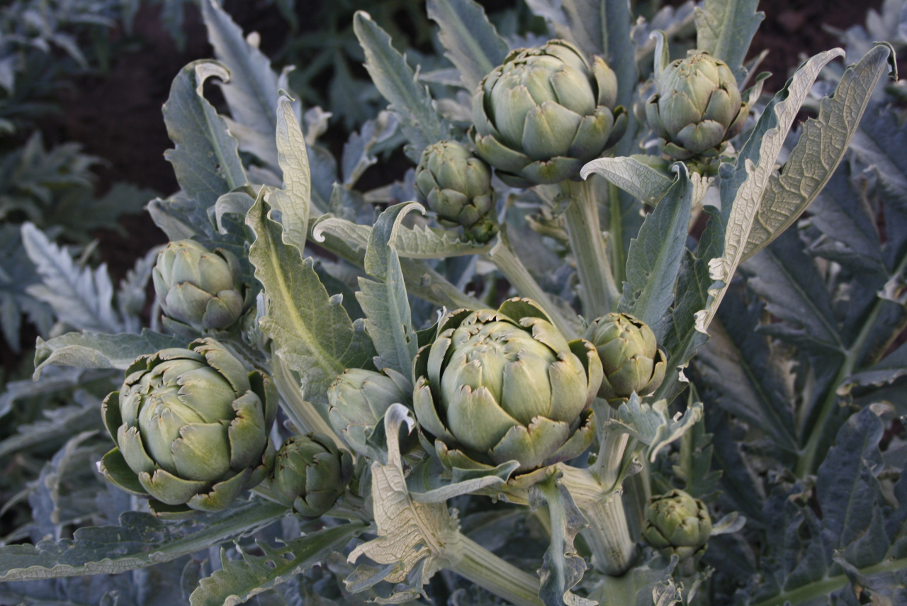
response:
{"label": "long narrow leaf with pale curled edge, left of the right-hand upright pair", "polygon": [[839,48],[825,51],[798,69],[785,84],[784,90],[775,94],[775,98],[768,103],[736,162],[721,166],[721,214],[727,226],[725,252],[720,259],[709,261],[709,272],[712,279],[722,282],[724,286],[709,289],[711,301],[706,309],[697,312],[699,330],[707,330],[743,259],[759,204],[775,171],[775,161],[800,106],[824,65],[842,54],[844,51]]}

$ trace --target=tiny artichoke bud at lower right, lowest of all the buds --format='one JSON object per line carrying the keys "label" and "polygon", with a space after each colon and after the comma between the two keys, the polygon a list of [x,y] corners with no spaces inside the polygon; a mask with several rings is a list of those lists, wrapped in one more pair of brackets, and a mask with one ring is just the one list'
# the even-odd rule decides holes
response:
{"label": "tiny artichoke bud at lower right, lowest of all the buds", "polygon": [[706,552],[712,519],[706,503],[674,489],[649,499],[642,533],[649,545],[664,555],[676,553],[680,562],[698,562]]}

